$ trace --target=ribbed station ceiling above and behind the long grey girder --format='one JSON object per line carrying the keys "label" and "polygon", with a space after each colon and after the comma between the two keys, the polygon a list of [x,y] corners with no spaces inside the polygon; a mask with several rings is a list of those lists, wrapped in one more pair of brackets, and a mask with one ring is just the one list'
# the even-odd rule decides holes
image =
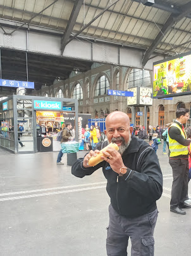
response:
{"label": "ribbed station ceiling above and behind the long grey girder", "polygon": [[[33,24],[63,31],[62,51],[77,34],[90,41],[142,48],[143,65],[153,53],[176,55],[190,51],[191,1],[154,2],[145,6],[145,0],[0,0],[0,27],[6,33],[3,21],[14,20],[21,26]],[[18,29],[13,29],[13,33]],[[83,72],[92,65],[83,60],[39,57],[35,53],[27,53],[27,57],[28,77],[35,81],[37,89],[42,84],[52,84],[56,77],[66,79],[74,68]],[[1,50],[1,63],[4,78],[25,80],[25,52]]]}

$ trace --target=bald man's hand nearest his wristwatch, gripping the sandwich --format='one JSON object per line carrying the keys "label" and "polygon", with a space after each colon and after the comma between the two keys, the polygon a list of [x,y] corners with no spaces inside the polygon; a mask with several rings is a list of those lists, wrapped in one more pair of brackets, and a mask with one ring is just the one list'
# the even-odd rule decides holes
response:
{"label": "bald man's hand nearest his wristwatch, gripping the sandwich", "polygon": [[101,156],[101,158],[109,163],[114,172],[120,173],[120,168],[125,166],[121,154],[112,147],[108,147],[107,150],[102,151],[102,153],[104,156]]}

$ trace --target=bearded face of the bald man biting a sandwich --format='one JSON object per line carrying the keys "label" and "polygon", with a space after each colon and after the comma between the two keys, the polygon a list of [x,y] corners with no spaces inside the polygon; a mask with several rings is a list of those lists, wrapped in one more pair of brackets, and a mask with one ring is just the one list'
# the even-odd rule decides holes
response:
{"label": "bearded face of the bald man biting a sandwich", "polygon": [[109,143],[114,142],[120,147],[123,144],[128,144],[133,128],[125,118],[114,116],[106,121],[106,131]]}

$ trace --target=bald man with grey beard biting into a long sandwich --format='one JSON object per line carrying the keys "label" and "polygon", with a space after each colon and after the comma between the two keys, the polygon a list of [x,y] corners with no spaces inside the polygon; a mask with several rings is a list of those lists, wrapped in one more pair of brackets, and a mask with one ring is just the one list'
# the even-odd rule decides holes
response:
{"label": "bald man with grey beard biting into a long sandwich", "polygon": [[[76,177],[91,175],[102,168],[108,180],[109,227],[106,239],[107,255],[126,256],[128,239],[132,255],[154,255],[154,227],[157,220],[156,200],[163,191],[163,175],[154,149],[132,135],[133,127],[127,114],[114,111],[106,118],[108,142],[97,145],[71,168]],[[114,142],[120,148],[108,148],[102,161],[94,167],[88,161],[95,153]]]}

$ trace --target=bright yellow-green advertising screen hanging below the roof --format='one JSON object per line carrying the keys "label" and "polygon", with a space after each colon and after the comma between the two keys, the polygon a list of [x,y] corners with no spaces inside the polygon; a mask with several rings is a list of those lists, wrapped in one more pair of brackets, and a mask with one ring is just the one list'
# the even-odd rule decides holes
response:
{"label": "bright yellow-green advertising screen hanging below the roof", "polygon": [[191,94],[191,52],[155,62],[153,98]]}

